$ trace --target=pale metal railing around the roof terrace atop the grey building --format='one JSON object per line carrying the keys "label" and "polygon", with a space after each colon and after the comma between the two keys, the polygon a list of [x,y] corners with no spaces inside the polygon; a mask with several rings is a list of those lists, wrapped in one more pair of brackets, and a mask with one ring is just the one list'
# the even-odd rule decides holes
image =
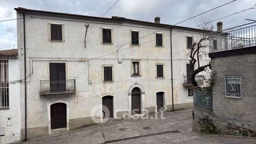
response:
{"label": "pale metal railing around the roof terrace atop the grey building", "polygon": [[218,32],[209,36],[210,52],[219,52],[232,50],[236,48],[245,48],[256,46],[256,25],[230,29],[226,32]]}

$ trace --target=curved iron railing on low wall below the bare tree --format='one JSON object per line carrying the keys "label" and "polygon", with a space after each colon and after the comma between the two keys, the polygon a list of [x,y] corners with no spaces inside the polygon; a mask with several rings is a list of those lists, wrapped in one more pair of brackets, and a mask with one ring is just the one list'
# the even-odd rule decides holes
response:
{"label": "curved iron railing on low wall below the bare tree", "polygon": [[212,92],[194,90],[194,104],[199,107],[213,109]]}

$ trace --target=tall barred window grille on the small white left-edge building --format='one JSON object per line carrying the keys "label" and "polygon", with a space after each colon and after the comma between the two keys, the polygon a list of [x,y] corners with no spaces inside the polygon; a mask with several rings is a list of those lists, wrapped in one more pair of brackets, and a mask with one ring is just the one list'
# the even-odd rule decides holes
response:
{"label": "tall barred window grille on the small white left-edge building", "polygon": [[0,60],[0,109],[9,109],[8,60]]}

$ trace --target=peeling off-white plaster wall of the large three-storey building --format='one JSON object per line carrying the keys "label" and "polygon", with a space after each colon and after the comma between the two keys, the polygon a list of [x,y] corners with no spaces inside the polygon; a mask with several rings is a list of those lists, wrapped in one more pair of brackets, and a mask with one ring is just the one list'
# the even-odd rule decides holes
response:
{"label": "peeling off-white plaster wall of the large three-storey building", "polygon": [[[51,18],[40,19],[30,16]],[[17,13],[20,18],[21,13]],[[62,100],[69,105],[69,119],[79,119],[93,116],[90,112],[95,105],[102,104],[102,97],[114,96],[114,110],[124,112],[129,110],[128,90],[135,84],[140,84],[145,90],[145,108],[156,107],[156,91],[165,92],[165,104],[172,105],[171,91],[171,62],[170,62],[170,30],[162,30],[163,47],[156,47],[155,34],[140,39],[140,44],[152,41],[140,46],[131,47],[125,44],[117,54],[113,53],[120,45],[131,41],[131,30],[138,30],[139,37],[146,36],[164,27],[142,25],[129,22],[99,21],[91,28],[86,37],[86,27],[83,22],[65,21],[76,20],[96,22],[95,20],[75,17],[55,16],[50,14],[36,14],[26,12],[26,47],[27,47],[27,126],[37,128],[48,126],[48,105],[54,101]],[[65,20],[53,20],[65,19]],[[49,40],[49,22],[64,23],[64,41],[56,42]],[[17,20],[18,25],[18,49],[23,54],[23,20]],[[90,23],[90,27],[93,23]],[[130,25],[132,27],[120,26]],[[112,29],[113,44],[102,44],[101,27]],[[140,28],[147,27],[147,28]],[[174,104],[192,103],[193,99],[187,98],[187,88],[183,86],[183,75],[186,75],[186,37],[187,33],[179,33],[173,38],[173,69],[174,69]],[[166,36],[166,37],[165,37]],[[128,50],[124,50],[129,48]],[[122,51],[124,50],[124,51]],[[100,59],[88,59],[106,55]],[[22,61],[23,57],[19,57]],[[140,60],[141,76],[131,76],[131,60]],[[40,96],[40,80],[49,80],[49,62],[62,61],[66,63],[66,79],[76,80],[75,94],[55,94]],[[164,78],[156,78],[156,63],[164,64]],[[23,64],[23,63],[22,63]],[[113,65],[113,82],[103,82],[102,65]],[[88,67],[89,77],[88,79]],[[21,66],[23,69],[23,65]],[[24,73],[21,70],[21,77]],[[91,85],[88,84],[91,82]],[[21,85],[22,87],[23,85]],[[21,96],[24,89],[21,89]],[[21,101],[22,105],[24,101]],[[24,112],[24,109],[22,109]],[[115,116],[114,114],[114,116]],[[21,129],[24,129],[24,116],[22,115]],[[50,133],[50,132],[49,132]],[[30,137],[28,135],[28,137]],[[31,136],[33,137],[33,136]]]}

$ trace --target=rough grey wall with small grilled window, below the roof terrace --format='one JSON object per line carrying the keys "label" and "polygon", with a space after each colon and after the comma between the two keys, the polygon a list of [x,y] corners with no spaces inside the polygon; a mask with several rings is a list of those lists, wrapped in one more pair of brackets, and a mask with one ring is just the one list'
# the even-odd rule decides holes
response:
{"label": "rough grey wall with small grilled window, below the roof terrace", "polygon": [[[215,57],[213,121],[219,133],[255,136],[256,130],[256,53]],[[227,98],[225,76],[241,76],[242,98]]]}

